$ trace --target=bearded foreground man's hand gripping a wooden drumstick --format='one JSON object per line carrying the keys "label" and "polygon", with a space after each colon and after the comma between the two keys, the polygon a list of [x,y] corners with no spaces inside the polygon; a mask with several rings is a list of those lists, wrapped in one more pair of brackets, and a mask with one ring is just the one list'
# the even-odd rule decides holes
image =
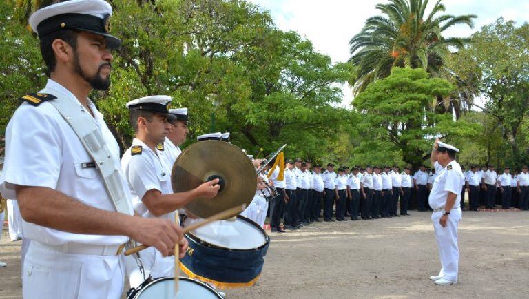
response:
{"label": "bearded foreground man's hand gripping a wooden drumstick", "polygon": [[168,256],[172,248],[183,239],[182,227],[169,219],[135,217],[137,222],[130,235],[139,243],[155,247],[163,256]]}

